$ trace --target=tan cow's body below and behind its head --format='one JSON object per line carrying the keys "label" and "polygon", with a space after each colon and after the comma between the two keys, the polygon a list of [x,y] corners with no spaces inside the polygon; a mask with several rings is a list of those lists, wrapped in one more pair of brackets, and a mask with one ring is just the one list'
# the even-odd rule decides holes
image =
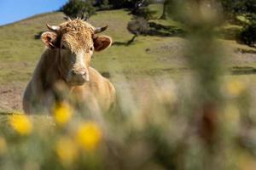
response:
{"label": "tan cow's body below and behind its head", "polygon": [[[24,111],[28,114],[50,112],[56,102],[68,99],[77,99],[92,111],[108,111],[115,100],[113,84],[90,66],[87,74],[90,81],[79,85],[67,82],[61,72],[61,49],[47,48],[26,88]],[[66,94],[66,98],[61,99],[60,92]]]}

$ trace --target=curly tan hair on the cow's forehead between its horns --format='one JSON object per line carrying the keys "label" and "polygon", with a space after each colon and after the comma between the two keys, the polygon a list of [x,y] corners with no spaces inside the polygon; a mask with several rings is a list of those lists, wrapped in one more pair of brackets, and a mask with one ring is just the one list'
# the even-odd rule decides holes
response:
{"label": "curly tan hair on the cow's forehead between its horns", "polygon": [[95,27],[84,20],[69,20],[60,25],[63,40],[73,52],[81,49],[88,50],[93,45],[92,36]]}

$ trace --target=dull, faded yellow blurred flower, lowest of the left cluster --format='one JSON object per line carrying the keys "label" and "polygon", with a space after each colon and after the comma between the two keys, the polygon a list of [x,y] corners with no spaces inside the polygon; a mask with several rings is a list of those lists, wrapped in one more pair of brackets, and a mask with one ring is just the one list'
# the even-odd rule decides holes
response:
{"label": "dull, faded yellow blurred flower, lowest of the left cluster", "polygon": [[72,139],[62,137],[55,144],[55,152],[61,162],[70,164],[78,156],[78,149]]}

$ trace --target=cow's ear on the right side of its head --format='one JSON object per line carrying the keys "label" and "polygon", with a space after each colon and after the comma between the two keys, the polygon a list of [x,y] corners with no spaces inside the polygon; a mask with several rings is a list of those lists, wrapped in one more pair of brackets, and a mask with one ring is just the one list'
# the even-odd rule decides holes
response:
{"label": "cow's ear on the right side of its head", "polygon": [[93,38],[94,42],[94,49],[96,51],[102,51],[103,49],[106,49],[111,46],[112,39],[108,36],[97,36]]}

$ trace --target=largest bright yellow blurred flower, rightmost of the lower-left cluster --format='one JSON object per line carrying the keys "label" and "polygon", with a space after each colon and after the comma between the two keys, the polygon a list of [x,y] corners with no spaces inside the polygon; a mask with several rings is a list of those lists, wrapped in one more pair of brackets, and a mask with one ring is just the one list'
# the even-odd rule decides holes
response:
{"label": "largest bright yellow blurred flower, rightmost of the lower-left cluster", "polygon": [[84,150],[96,150],[102,139],[102,131],[95,122],[85,122],[77,132],[77,141]]}

